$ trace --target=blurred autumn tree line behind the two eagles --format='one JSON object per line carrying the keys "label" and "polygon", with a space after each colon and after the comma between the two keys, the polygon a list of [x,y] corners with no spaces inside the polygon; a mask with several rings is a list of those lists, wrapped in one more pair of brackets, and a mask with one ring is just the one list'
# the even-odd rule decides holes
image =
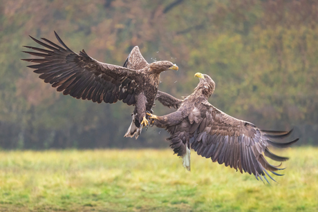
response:
{"label": "blurred autumn tree line behind the two eagles", "polygon": [[[206,73],[209,102],[260,128],[294,127],[318,144],[318,1],[0,1],[0,146],[2,148],[167,147],[162,129],[124,139],[133,107],[57,93],[32,73],[28,35],[122,65],[133,46],[147,61],[170,60],[160,90],[189,95]],[[157,115],[171,109],[157,103]]]}

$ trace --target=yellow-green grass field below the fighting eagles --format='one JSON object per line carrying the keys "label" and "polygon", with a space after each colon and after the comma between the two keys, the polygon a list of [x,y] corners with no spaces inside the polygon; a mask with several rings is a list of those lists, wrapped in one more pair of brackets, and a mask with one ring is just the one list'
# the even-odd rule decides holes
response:
{"label": "yellow-green grass field below the fighting eagles", "polygon": [[0,151],[0,211],[318,211],[318,148],[273,152],[269,186],[194,152],[188,172],[170,149]]}

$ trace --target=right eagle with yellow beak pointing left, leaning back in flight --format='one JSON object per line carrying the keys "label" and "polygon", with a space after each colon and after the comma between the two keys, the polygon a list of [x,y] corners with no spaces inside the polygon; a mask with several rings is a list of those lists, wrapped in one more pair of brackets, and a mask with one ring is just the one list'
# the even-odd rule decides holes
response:
{"label": "right eagle with yellow beak pointing left, leaning back in flight", "polygon": [[[250,122],[236,119],[223,113],[207,102],[214,93],[215,83],[211,77],[196,73],[200,79],[194,93],[178,102],[178,110],[168,115],[156,116],[148,114],[155,126],[165,128],[170,134],[167,139],[174,153],[183,157],[183,166],[190,171],[190,148],[198,155],[211,158],[212,162],[225,164],[253,174],[257,180],[268,182],[266,175],[274,180],[268,171],[280,175],[275,171],[281,170],[273,166],[264,156],[272,160],[283,162],[288,157],[274,155],[268,146],[278,148],[288,147],[292,142],[274,142],[272,139],[283,138],[291,131],[265,131]],[[268,182],[269,183],[269,182]]]}

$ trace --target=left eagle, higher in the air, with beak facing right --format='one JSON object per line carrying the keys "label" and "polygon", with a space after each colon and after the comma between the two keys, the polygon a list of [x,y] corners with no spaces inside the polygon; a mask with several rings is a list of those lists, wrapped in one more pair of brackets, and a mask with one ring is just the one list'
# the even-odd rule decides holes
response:
{"label": "left eagle, higher in the air, with beak facing right", "polygon": [[[31,37],[31,36],[30,36]],[[59,46],[48,39],[46,43],[31,37],[37,44],[48,49],[24,46],[37,52],[23,51],[30,55],[43,57],[41,59],[22,59],[37,63],[27,66],[64,95],[77,99],[88,99],[93,102],[115,103],[122,100],[125,104],[135,106],[133,122],[125,137],[137,139],[142,126],[148,126],[146,111],[151,111],[158,92],[160,73],[165,70],[178,70],[171,61],[155,61],[148,64],[140,60],[134,52],[139,52],[138,46],[125,61],[125,65],[105,64],[88,56],[84,49],[79,54],[73,52],[64,44],[55,32]],[[141,55],[141,54],[140,54]],[[138,61],[140,64],[138,64]],[[131,68],[129,68],[131,67]],[[139,68],[140,67],[140,68]],[[138,126],[138,127],[136,127]]]}

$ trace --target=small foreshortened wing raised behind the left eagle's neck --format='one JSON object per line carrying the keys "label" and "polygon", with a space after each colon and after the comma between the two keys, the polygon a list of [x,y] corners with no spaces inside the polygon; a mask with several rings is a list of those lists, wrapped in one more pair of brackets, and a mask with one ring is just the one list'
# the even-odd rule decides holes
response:
{"label": "small foreshortened wing raised behind the left eagle's neck", "polygon": [[129,53],[126,61],[124,61],[124,67],[140,70],[146,66],[149,66],[148,62],[142,57],[139,47],[135,46]]}

